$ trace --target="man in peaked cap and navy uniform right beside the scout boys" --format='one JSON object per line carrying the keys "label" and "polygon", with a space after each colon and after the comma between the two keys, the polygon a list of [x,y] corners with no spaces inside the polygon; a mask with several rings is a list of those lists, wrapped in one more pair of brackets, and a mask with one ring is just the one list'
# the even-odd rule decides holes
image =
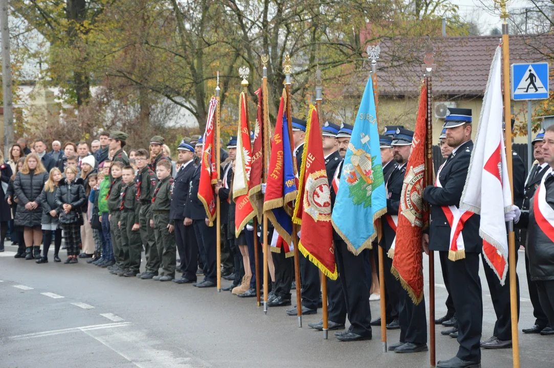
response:
{"label": "man in peaked cap and navy uniform right beside the scout boys", "polygon": [[179,271],[182,276],[172,281],[178,284],[187,284],[196,282],[196,270],[198,269],[198,244],[194,228],[192,225],[184,225],[184,205],[188,200],[188,189],[191,186],[196,165],[193,160],[194,147],[190,143],[181,142],[177,151],[181,166],[173,179],[170,219],[175,221],[175,241],[179,258],[181,258]]}

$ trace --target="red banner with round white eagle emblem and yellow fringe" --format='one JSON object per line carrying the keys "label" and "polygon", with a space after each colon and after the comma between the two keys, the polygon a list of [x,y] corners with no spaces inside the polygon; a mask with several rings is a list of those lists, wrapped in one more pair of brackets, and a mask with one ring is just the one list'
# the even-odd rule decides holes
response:
{"label": "red banner with round white eagle emblem and yellow fringe", "polygon": [[293,221],[302,225],[298,250],[325,276],[336,280],[337,266],[331,225],[331,189],[325,170],[325,158],[319,118],[310,106],[306,123],[306,143],[302,153],[298,195]]}

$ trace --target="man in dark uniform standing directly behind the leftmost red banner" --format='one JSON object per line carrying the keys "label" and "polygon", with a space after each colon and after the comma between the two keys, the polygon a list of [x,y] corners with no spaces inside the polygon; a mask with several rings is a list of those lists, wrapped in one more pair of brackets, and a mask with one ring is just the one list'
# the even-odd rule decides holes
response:
{"label": "man in dark uniform standing directly behind the leftmost red banner", "polygon": [[[196,155],[202,157],[203,154],[203,139],[202,137],[196,142],[194,147]],[[200,186],[201,166],[194,169],[191,180],[191,185],[188,191],[187,203],[184,205],[184,221],[185,225],[192,224],[194,234],[196,234],[196,242],[198,251],[203,262],[204,279],[193,283],[193,286],[198,288],[215,287],[217,269],[216,265],[216,227],[208,226],[208,217],[204,205],[198,199],[198,189]]]}

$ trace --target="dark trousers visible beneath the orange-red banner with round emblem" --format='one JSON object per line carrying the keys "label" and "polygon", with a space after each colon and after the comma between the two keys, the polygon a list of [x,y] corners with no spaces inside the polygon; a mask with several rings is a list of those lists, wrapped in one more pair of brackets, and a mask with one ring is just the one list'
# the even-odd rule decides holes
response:
{"label": "dark trousers visible beneath the orange-red banner with round emblem", "polygon": [[425,314],[425,298],[416,305],[406,290],[399,290],[400,304],[398,306],[398,322],[400,324],[400,342],[427,344],[427,315]]}

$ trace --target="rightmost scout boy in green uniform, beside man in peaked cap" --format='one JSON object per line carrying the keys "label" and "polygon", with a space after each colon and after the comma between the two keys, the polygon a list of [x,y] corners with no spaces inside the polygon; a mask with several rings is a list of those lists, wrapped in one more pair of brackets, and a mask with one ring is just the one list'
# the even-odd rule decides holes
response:
{"label": "rightmost scout boy in green uniform, beside man in peaked cap", "polygon": [[162,272],[153,279],[159,281],[171,281],[175,278],[175,263],[177,246],[173,236],[173,220],[170,220],[171,190],[173,178],[171,177],[171,162],[161,160],[156,168],[158,185],[152,197],[152,220],[150,225],[154,227],[156,247],[162,260]]}

